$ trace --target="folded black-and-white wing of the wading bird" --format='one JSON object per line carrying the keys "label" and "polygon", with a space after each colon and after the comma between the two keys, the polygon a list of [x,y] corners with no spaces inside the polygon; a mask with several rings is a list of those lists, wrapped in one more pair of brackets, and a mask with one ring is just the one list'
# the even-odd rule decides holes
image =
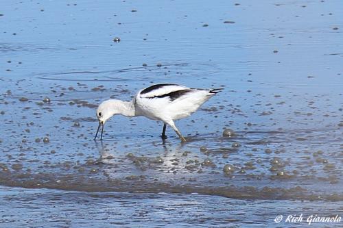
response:
{"label": "folded black-and-white wing of the wading bird", "polygon": [[191,88],[177,84],[156,84],[141,90],[139,97],[146,99],[168,98],[174,101],[192,91]]}

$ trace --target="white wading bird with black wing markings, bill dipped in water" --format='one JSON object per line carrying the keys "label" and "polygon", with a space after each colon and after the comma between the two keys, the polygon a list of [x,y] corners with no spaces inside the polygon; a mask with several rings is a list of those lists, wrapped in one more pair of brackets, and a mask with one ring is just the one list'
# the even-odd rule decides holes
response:
{"label": "white wading bird with black wing markings, bill dipped in water", "polygon": [[223,88],[189,88],[178,84],[154,84],[137,92],[132,101],[109,99],[97,107],[99,125],[94,140],[102,127],[100,140],[104,132],[104,125],[109,118],[121,114],[127,117],[145,116],[153,121],[162,121],[161,137],[167,138],[165,130],[169,125],[182,142],[186,142],[174,121],[186,118],[196,112],[198,108]]}

